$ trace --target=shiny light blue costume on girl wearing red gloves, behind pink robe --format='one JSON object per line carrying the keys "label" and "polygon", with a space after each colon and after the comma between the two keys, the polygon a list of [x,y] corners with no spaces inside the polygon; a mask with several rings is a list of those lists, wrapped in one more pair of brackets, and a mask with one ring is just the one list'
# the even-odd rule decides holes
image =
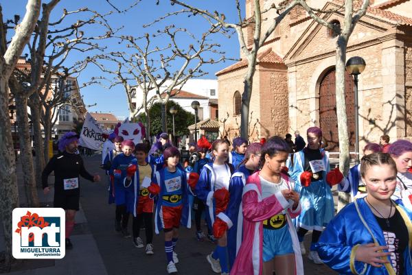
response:
{"label": "shiny light blue costume on girl wearing red gloves, behind pink robe", "polygon": [[305,150],[295,153],[291,175],[296,182],[295,189],[300,193],[302,207],[301,214],[295,222],[298,228],[322,231],[323,227],[334,217],[332,191],[326,182],[326,174],[330,171],[328,152],[321,150],[322,160],[326,170],[321,171],[322,180],[312,180],[308,187],[302,187],[300,176],[304,172],[304,151]]}

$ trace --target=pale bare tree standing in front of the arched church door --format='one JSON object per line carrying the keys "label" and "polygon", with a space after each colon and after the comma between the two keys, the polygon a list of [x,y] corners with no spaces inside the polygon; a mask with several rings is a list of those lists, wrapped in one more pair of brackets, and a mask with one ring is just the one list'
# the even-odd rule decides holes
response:
{"label": "pale bare tree standing in front of the arched church door", "polygon": [[[345,15],[343,24],[339,25],[330,23],[325,20],[322,15],[325,15],[323,10],[310,8],[305,1],[301,1],[301,6],[308,12],[309,16],[317,23],[332,29],[337,34],[336,40],[336,115],[338,117],[338,134],[339,134],[339,169],[346,176],[350,169],[350,154],[349,154],[349,136],[347,132],[347,115],[345,102],[345,64],[346,64],[346,49],[347,42],[356,27],[359,19],[365,15],[369,0],[363,0],[361,5],[358,5],[358,10],[354,11],[354,0],[345,0]],[[319,12],[319,14],[315,14]],[[327,12],[328,13],[328,12]],[[346,193],[339,193],[339,206],[341,209],[349,201],[349,196]]]}

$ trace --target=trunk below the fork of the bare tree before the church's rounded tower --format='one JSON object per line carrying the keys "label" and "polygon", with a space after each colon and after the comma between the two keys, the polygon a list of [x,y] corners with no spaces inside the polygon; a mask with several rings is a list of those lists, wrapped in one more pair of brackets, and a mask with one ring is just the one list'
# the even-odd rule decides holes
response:
{"label": "trunk below the fork of the bare tree before the church's rounded tower", "polygon": [[256,65],[250,63],[249,61],[248,72],[243,80],[244,90],[242,95],[242,108],[240,110],[240,136],[247,141],[249,141],[249,104],[251,102],[253,75],[255,74]]}

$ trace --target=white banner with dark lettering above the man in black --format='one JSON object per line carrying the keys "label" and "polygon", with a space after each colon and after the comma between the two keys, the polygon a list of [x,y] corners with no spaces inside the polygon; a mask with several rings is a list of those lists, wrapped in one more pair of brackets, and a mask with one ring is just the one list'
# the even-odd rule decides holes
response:
{"label": "white banner with dark lettering above the man in black", "polygon": [[82,132],[80,132],[79,145],[89,149],[102,151],[103,143],[106,141],[105,136],[108,136],[111,132],[100,128],[98,122],[95,121],[88,112],[86,119],[84,119]]}

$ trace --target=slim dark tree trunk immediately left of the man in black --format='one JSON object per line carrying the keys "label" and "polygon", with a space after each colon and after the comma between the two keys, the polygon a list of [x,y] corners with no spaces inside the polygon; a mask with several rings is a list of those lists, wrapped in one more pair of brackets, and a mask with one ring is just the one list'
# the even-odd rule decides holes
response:
{"label": "slim dark tree trunk immediately left of the man in black", "polygon": [[43,147],[43,137],[41,136],[40,125],[40,99],[38,94],[34,93],[30,96],[30,113],[32,115],[33,124],[33,147],[36,156],[35,159],[35,171],[36,171],[36,185],[41,187],[41,174],[45,169],[45,156]]}

